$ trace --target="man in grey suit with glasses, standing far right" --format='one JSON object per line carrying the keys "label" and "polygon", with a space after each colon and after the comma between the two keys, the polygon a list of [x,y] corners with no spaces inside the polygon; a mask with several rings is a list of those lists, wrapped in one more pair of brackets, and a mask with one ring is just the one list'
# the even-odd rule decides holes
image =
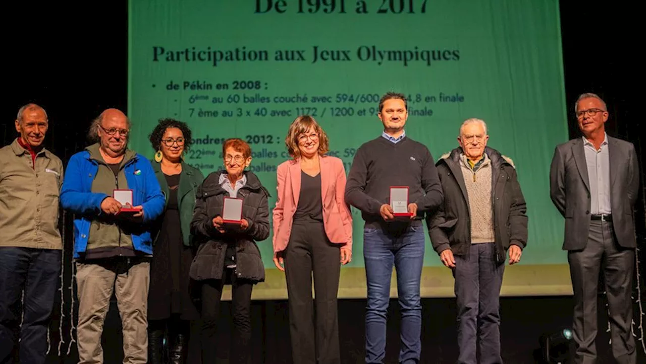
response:
{"label": "man in grey suit with glasses, standing far right", "polygon": [[597,287],[604,269],[612,354],[635,364],[632,278],[635,265],[633,207],[639,191],[637,153],[630,142],[605,133],[608,111],[594,93],[576,102],[583,138],[554,150],[550,196],[565,217],[565,242],[574,290],[575,363],[595,363]]}

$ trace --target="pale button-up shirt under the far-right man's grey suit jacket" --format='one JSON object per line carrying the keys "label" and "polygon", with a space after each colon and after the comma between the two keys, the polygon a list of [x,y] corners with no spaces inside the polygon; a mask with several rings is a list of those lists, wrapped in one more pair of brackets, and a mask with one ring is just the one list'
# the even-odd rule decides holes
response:
{"label": "pale button-up shirt under the far-right man's grey suit jacket", "polygon": [[585,164],[590,182],[590,214],[609,215],[610,207],[610,156],[608,154],[608,135],[603,135],[599,150],[583,137]]}

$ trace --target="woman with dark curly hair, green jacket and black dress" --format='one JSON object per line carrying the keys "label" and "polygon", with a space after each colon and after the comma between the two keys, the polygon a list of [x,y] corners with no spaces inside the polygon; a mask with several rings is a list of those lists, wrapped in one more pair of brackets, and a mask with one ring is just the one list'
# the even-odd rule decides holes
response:
{"label": "woman with dark curly hair, green jacket and black dress", "polygon": [[186,359],[189,332],[193,331],[190,322],[200,318],[189,278],[196,245],[190,224],[195,193],[204,177],[182,160],[191,146],[191,129],[184,122],[161,119],[149,139],[156,150],[152,168],[166,198],[164,213],[156,220],[152,236],[149,363],[165,363],[164,341],[169,343],[171,363],[194,362]]}

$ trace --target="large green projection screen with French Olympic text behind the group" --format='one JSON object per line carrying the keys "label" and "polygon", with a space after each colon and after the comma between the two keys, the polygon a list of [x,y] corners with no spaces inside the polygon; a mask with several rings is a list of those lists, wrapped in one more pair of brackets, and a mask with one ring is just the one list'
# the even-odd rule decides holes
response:
{"label": "large green projection screen with French Olympic text behind the group", "polygon": [[[548,182],[554,147],[568,138],[557,0],[129,3],[130,148],[152,158],[157,120],[183,120],[194,137],[185,161],[207,175],[223,166],[222,142],[240,137],[272,194],[270,209],[293,119],[313,115],[347,173],[356,148],[382,132],[377,104],[386,91],[407,95],[406,134],[435,160],[457,146],[463,120],[486,121],[488,145],[514,160],[529,216],[528,246],[506,268],[502,294],[571,294],[563,219]],[[366,296],[355,209],[353,219],[340,298]],[[452,296],[450,270],[426,240],[422,296]],[[267,279],[253,298],[286,298],[271,236],[258,246]]]}

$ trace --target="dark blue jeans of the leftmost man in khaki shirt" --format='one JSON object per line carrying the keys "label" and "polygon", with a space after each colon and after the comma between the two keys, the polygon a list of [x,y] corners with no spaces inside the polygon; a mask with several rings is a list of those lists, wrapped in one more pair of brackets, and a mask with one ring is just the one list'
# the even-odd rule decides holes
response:
{"label": "dark blue jeans of the leftmost man in khaki shirt", "polygon": [[21,363],[45,363],[60,271],[59,250],[0,247],[0,363],[10,362],[18,338]]}

